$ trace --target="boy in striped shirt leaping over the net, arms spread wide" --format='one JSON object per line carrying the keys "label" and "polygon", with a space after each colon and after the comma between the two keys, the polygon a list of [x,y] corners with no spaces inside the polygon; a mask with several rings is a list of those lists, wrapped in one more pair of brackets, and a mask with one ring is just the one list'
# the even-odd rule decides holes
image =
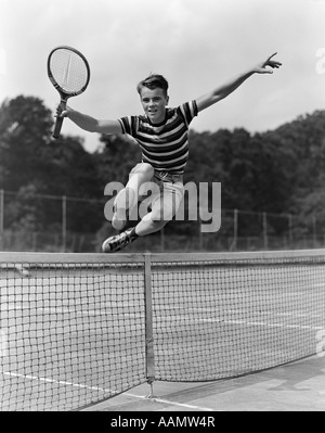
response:
{"label": "boy in striped shirt leaping over the net, arms spread wide", "polygon": [[151,196],[151,211],[135,227],[106,239],[102,245],[104,253],[119,251],[136,238],[162,229],[173,218],[183,198],[183,171],[188,156],[187,132],[192,119],[227,97],[251,75],[272,74],[273,71],[266,66],[278,68],[282,65],[272,60],[275,54],[211,92],[177,109],[167,107],[168,82],[158,74],[148,76],[136,87],[144,115],[100,120],[68,106],[64,111],[57,107],[57,115],[68,117],[87,131],[128,133],[142,150],[142,162],[131,170],[126,188],[116,195],[114,202],[112,225],[116,230],[123,228],[127,214],[136,205],[140,187],[148,181],[158,187]]}

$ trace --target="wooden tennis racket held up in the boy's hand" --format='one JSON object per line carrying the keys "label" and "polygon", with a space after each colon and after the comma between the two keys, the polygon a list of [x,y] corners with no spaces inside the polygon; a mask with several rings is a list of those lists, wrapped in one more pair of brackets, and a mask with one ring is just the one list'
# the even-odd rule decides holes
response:
{"label": "wooden tennis racket held up in the boy's hand", "polygon": [[[89,84],[90,68],[86,58],[75,48],[57,47],[48,59],[48,76],[60,93],[62,110],[67,100],[82,93]],[[56,117],[53,138],[58,138],[63,117]]]}

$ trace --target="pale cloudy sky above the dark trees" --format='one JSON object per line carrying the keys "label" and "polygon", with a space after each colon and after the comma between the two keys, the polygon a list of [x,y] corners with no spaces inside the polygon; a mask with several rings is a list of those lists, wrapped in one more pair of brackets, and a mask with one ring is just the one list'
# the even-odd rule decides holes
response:
{"label": "pale cloudy sky above the dark trees", "polygon": [[[91,79],[69,105],[96,118],[141,114],[136,84],[169,81],[169,105],[213,90],[277,52],[283,66],[251,76],[199,113],[197,132],[262,132],[325,110],[325,0],[0,0],[0,103],[37,97],[55,111],[47,76],[50,51],[81,51]],[[100,142],[65,119],[63,133]]]}

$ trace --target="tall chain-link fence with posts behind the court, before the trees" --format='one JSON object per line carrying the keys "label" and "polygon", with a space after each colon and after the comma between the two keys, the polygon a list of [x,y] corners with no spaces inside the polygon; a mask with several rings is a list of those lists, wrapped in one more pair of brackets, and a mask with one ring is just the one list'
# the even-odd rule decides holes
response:
{"label": "tall chain-link fence with posts behind the court, before the trees", "polygon": [[[105,198],[0,190],[0,247],[99,252],[102,241],[115,233],[105,219]],[[315,216],[221,209],[221,227],[216,232],[203,232],[200,220],[174,220],[160,232],[139,239],[128,251],[259,251],[324,245],[325,228]]]}

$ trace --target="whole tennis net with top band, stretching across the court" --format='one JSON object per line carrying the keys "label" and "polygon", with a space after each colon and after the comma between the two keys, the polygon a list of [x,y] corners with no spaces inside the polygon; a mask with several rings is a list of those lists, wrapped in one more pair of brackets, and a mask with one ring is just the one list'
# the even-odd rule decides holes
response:
{"label": "whole tennis net with top band, stretching across the court", "polygon": [[0,266],[1,410],[76,410],[323,355],[325,250],[0,253]]}

